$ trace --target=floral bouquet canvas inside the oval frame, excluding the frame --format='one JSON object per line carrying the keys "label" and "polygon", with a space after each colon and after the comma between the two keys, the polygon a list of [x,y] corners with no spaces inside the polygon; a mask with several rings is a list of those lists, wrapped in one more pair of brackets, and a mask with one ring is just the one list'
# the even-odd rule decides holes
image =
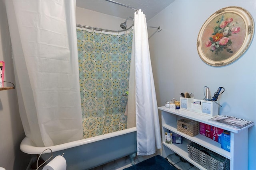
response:
{"label": "floral bouquet canvas inside the oval frame, excluding the frame", "polygon": [[242,46],[245,31],[245,24],[240,16],[229,13],[219,15],[204,30],[203,52],[213,61],[228,59]]}

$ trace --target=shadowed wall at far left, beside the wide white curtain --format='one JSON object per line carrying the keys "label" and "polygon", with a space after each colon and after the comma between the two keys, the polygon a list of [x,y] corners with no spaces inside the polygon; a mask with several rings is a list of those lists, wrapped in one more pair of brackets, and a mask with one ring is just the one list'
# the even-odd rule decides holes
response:
{"label": "shadowed wall at far left, beside the wide white curtain", "polygon": [[[10,33],[2,0],[0,0],[0,61],[5,62],[5,81],[15,84]],[[12,84],[5,83],[4,86],[12,86]],[[24,137],[16,89],[0,91],[0,167],[6,170],[26,169],[30,155],[20,150],[20,142]]]}

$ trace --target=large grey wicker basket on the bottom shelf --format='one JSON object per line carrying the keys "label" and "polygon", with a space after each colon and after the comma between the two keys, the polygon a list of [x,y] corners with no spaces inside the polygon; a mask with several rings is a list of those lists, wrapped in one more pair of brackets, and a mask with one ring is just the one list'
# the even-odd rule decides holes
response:
{"label": "large grey wicker basket on the bottom shelf", "polygon": [[207,170],[230,170],[230,160],[196,143],[188,144],[188,156]]}

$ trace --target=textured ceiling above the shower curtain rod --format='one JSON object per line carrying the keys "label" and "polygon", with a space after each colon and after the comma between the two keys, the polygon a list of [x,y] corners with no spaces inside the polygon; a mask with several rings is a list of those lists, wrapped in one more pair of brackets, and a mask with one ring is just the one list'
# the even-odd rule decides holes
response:
{"label": "textured ceiling above the shower curtain rod", "polygon": [[[156,16],[160,11],[169,6],[174,0],[114,0],[121,4],[141,9],[147,20]],[[103,14],[126,19],[128,16],[134,17],[134,10],[108,2],[106,0],[76,0],[76,6],[86,8]]]}

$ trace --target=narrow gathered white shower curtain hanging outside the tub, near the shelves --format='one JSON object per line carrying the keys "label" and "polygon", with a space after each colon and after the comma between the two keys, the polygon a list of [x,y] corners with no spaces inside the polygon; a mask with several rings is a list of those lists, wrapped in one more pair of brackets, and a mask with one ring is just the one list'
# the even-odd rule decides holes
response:
{"label": "narrow gathered white shower curtain hanging outside the tub, near the shelves", "polygon": [[[134,41],[132,48],[131,64],[134,61],[135,90],[130,89],[132,86],[129,85],[129,98],[132,95],[130,92],[135,92],[137,154],[150,155],[156,152],[156,148],[161,149],[162,143],[148,46],[146,17],[141,10],[134,13]],[[128,111],[129,109],[128,107]]]}

